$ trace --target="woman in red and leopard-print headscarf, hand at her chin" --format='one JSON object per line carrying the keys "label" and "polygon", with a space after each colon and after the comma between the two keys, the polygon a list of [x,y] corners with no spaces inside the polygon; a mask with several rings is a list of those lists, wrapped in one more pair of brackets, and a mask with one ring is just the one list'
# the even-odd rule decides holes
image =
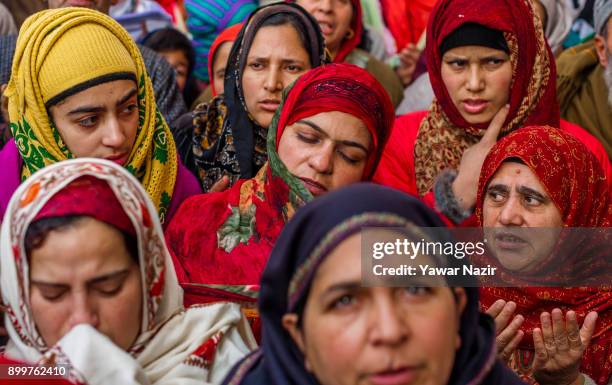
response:
{"label": "woman in red and leopard-print headscarf, hand at her chin", "polygon": [[[498,134],[526,125],[571,132],[612,175],[601,143],[560,121],[554,56],[530,0],[440,1],[425,54],[435,100],[429,111],[396,120],[374,178],[379,183],[427,196],[461,222],[474,206],[480,167]],[[445,169],[458,173],[441,174]]]}

